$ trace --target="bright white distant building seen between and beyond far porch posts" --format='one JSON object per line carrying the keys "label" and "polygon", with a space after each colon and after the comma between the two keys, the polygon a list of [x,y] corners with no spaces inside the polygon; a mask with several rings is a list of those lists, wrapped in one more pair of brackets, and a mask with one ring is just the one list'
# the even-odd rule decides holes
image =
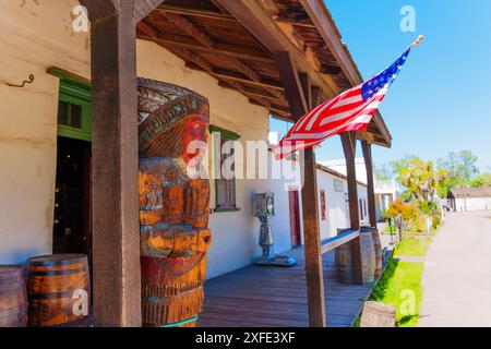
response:
{"label": "bright white distant building seen between and beyond far porch posts", "polygon": [[[330,160],[320,161],[325,167],[328,167],[339,173],[346,176],[346,160]],[[357,171],[357,180],[367,184],[367,167],[364,166],[363,158],[356,158],[355,166]],[[374,192],[375,192],[375,209],[376,219],[382,219],[382,213],[388,208],[388,205],[400,196],[402,190],[396,180],[378,181],[374,179]]]}

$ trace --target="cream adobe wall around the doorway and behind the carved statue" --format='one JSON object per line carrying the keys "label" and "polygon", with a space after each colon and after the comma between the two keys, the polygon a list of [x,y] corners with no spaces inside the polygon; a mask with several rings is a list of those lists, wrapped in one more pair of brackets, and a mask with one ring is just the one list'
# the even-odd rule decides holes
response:
{"label": "cream adobe wall around the doorway and behind the carved statue", "polygon": [[[24,263],[29,256],[51,253],[59,82],[46,70],[56,65],[89,77],[89,35],[71,29],[71,11],[77,4],[73,0],[0,1],[1,264]],[[219,87],[209,75],[187,69],[164,48],[139,41],[137,72],[208,97],[212,123],[239,133],[241,142],[267,141],[266,109]],[[25,88],[3,84],[17,83],[31,73],[35,83]],[[267,181],[239,180],[237,202],[241,210],[212,215],[209,277],[248,265],[260,254],[252,194],[267,189]]]}

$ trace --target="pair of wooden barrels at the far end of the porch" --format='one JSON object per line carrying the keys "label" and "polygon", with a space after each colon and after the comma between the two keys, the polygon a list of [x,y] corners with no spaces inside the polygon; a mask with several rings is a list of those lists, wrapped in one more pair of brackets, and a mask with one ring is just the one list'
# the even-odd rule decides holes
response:
{"label": "pair of wooden barrels at the far end of the porch", "polygon": [[[349,229],[338,229],[338,234]],[[382,275],[382,244],[374,227],[360,228],[360,252],[363,285],[372,285]],[[336,249],[337,276],[340,282],[354,284],[351,244],[345,243]]]}

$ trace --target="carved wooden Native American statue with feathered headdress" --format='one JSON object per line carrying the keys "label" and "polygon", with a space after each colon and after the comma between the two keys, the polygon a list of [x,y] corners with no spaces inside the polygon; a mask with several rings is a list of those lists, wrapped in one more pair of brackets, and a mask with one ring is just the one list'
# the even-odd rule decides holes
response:
{"label": "carved wooden Native American statue with feathered headdress", "polygon": [[209,182],[208,101],[139,80],[140,234],[144,326],[195,326],[203,308]]}

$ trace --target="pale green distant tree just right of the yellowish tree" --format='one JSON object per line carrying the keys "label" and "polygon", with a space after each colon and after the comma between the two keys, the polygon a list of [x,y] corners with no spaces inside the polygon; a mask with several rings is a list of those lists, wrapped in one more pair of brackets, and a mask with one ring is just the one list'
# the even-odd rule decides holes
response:
{"label": "pale green distant tree just right of the yellowish tree", "polygon": [[438,168],[445,169],[448,174],[450,189],[455,186],[469,185],[479,176],[477,168],[477,156],[470,151],[462,151],[456,154],[451,152],[444,159],[438,160]]}

